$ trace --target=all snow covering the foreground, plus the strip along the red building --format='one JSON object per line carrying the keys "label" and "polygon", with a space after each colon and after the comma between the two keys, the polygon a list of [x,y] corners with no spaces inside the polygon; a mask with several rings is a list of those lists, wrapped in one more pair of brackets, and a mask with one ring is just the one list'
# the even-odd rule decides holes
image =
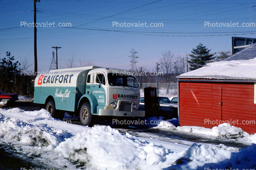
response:
{"label": "all snow covering the foreground, plus the strip along the red building", "polygon": [[[238,149],[224,144],[190,145],[139,138],[109,126],[84,127],[51,118],[46,110],[25,112],[0,109],[0,140],[15,153],[33,157],[48,169],[255,169],[256,138],[222,124],[213,129],[175,127],[157,121],[154,128],[208,138],[237,140],[250,146]],[[17,167],[19,168],[19,167]],[[20,167],[21,168],[21,167]],[[36,169],[37,167],[31,167]]]}

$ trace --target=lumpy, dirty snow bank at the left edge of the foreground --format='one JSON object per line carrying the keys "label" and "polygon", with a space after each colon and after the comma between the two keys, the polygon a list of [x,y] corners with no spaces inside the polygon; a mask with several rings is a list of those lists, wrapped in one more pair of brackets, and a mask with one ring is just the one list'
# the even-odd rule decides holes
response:
{"label": "lumpy, dirty snow bank at the left edge of the foreground", "polygon": [[54,129],[47,124],[31,124],[28,121],[9,118],[0,114],[0,138],[6,143],[19,143],[28,146],[57,146],[66,136],[61,129]]}

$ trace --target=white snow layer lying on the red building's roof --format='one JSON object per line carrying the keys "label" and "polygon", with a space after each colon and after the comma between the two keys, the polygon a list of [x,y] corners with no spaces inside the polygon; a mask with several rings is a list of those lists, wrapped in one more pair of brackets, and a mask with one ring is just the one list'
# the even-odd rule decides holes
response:
{"label": "white snow layer lying on the red building's roof", "polygon": [[202,68],[178,76],[201,79],[256,79],[256,58],[208,63]]}

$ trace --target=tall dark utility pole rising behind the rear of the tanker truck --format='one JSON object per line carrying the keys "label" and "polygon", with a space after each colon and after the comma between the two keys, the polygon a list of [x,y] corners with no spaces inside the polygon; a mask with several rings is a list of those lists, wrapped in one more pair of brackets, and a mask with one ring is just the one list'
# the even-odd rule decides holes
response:
{"label": "tall dark utility pole rising behind the rear of the tanker truck", "polygon": [[35,76],[37,76],[37,10],[36,10],[36,2],[40,2],[40,0],[34,0],[34,69]]}

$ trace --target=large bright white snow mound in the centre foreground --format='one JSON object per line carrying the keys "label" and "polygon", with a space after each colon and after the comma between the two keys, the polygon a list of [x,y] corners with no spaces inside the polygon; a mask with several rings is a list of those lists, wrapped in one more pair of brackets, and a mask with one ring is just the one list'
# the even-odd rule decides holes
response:
{"label": "large bright white snow mound in the centre foreground", "polygon": [[94,126],[67,139],[55,150],[73,162],[87,162],[87,168],[92,169],[135,169],[141,163],[157,165],[168,154],[162,146],[145,144],[109,126]]}

